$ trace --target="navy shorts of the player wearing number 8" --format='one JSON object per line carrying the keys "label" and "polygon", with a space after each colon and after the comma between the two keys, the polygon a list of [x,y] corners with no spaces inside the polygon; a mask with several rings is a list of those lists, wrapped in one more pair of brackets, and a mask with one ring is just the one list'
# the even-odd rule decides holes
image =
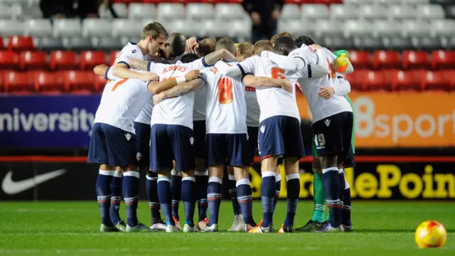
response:
{"label": "navy shorts of the player wearing number 8", "polygon": [[209,166],[249,166],[247,134],[207,134],[205,143]]}

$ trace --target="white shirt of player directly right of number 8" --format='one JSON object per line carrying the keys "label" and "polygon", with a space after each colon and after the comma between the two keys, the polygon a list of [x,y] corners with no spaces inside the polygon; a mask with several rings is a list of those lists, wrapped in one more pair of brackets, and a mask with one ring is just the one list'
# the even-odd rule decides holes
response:
{"label": "white shirt of player directly right of number 8", "polygon": [[[239,65],[245,74],[252,73],[256,76],[274,79],[287,79],[291,75],[291,72],[279,68],[272,60],[257,55],[247,58]],[[292,93],[283,90],[281,87],[257,88],[256,96],[261,110],[259,122],[277,115],[300,119],[294,86]]]}

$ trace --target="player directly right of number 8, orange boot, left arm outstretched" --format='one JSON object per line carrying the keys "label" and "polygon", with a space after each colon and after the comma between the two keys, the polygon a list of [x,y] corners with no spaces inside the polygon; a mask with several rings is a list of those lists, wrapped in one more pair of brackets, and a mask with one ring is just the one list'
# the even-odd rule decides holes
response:
{"label": "player directly right of number 8, orange boot, left arm outstretched", "polygon": [[[289,64],[290,68],[295,70],[300,68],[299,65],[293,62],[291,61]],[[317,64],[319,63],[316,63],[314,68],[319,68]],[[326,71],[326,68],[321,67],[321,70]],[[279,68],[267,56],[256,55],[232,66],[225,75],[234,76],[247,73],[277,79],[286,79],[287,75],[285,70]],[[325,73],[315,72],[314,75],[323,76],[327,73],[328,71]],[[287,218],[284,221],[284,229],[287,232],[292,232],[300,193],[299,159],[304,156],[295,87],[292,87],[291,92],[274,87],[261,88],[256,90],[256,94],[261,110],[258,137],[259,156],[262,159],[261,194],[264,219],[256,228],[252,228],[249,233],[270,233],[273,231],[272,216],[274,213],[276,169],[277,159],[280,157],[284,158],[284,171],[287,174],[288,191]]]}

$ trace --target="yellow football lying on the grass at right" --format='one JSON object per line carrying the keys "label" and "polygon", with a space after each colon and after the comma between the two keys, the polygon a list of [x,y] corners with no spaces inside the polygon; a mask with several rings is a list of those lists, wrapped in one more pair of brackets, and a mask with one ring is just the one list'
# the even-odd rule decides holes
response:
{"label": "yellow football lying on the grass at right", "polygon": [[442,247],[447,240],[447,231],[436,220],[427,220],[415,230],[415,242],[419,248]]}

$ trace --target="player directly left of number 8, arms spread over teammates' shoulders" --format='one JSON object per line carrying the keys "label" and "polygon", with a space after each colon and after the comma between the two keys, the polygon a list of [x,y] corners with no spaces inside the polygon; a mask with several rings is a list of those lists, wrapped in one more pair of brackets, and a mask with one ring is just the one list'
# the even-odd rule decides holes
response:
{"label": "player directly left of number 8, arms spread over teammates' shoulders", "polygon": [[[177,63],[177,65],[165,65],[151,63],[143,60],[132,60],[134,68],[149,70],[158,73],[160,80],[177,78],[179,83],[185,82],[183,75],[190,70],[200,70],[205,66],[213,65],[223,59],[235,59],[227,50],[218,50],[204,58],[194,60],[191,63]],[[182,58],[183,59],[183,58]],[[182,60],[183,61],[183,60]],[[185,204],[186,220],[183,232],[193,232],[196,226],[193,223],[194,201],[193,193],[196,179],[194,178],[195,159],[193,156],[193,105],[194,87],[186,93],[172,99],[161,100],[155,105],[151,115],[151,149],[150,169],[159,173],[158,191],[161,209],[166,218],[166,232],[178,232],[176,223],[171,214],[171,169],[172,160],[176,160],[176,171],[182,175],[182,196]],[[154,97],[158,97],[155,95]]]}

